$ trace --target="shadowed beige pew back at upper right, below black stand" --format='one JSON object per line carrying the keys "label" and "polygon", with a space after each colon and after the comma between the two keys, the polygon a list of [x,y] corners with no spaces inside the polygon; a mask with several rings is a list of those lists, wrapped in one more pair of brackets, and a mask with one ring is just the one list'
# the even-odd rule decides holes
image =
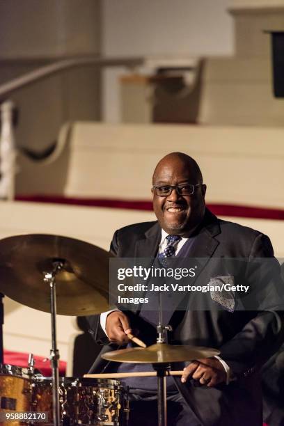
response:
{"label": "shadowed beige pew back at upper right, below black stand", "polygon": [[273,95],[269,57],[205,62],[200,123],[283,126],[283,116],[284,102]]}

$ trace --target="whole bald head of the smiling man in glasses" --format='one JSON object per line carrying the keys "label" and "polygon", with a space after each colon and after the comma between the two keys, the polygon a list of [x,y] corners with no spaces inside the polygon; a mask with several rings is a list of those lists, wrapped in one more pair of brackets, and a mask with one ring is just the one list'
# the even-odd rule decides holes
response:
{"label": "whole bald head of the smiling man in glasses", "polygon": [[161,228],[171,235],[191,235],[205,214],[205,192],[200,168],[193,158],[182,152],[162,158],[155,168],[152,188]]}

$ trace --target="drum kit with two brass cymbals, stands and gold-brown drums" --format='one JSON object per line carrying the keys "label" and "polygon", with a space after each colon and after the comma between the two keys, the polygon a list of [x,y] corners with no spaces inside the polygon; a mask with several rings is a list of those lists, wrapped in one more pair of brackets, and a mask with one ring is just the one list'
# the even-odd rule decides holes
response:
{"label": "drum kit with two brass cymbals, stands and gold-brown drums", "polygon": [[166,376],[182,374],[171,371],[170,363],[219,354],[212,348],[168,345],[170,326],[162,325],[159,303],[157,344],[145,347],[136,339],[141,347],[102,356],[120,363],[150,363],[154,372],[59,377],[56,315],[95,315],[109,310],[110,257],[102,248],[57,235],[19,235],[0,241],[0,292],[51,313],[52,322],[52,377],[36,374],[33,356],[27,368],[0,364],[0,425],[6,424],[3,413],[17,413],[7,425],[37,425],[40,417],[36,413],[45,413],[45,419],[55,426],[124,426],[129,419],[129,399],[119,379],[156,375],[157,424],[166,426]]}

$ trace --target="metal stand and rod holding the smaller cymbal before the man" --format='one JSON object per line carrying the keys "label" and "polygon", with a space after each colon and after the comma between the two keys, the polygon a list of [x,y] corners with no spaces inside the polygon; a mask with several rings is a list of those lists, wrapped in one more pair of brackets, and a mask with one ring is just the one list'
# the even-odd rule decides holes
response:
{"label": "metal stand and rod holding the smaller cymbal before the man", "polygon": [[[161,293],[159,293],[159,324],[157,325],[157,343],[166,343],[167,332],[172,331],[170,325],[162,325],[162,311],[161,311]],[[166,426],[166,372],[170,369],[167,363],[153,364],[154,370],[157,371],[157,384],[158,384],[158,426]]]}

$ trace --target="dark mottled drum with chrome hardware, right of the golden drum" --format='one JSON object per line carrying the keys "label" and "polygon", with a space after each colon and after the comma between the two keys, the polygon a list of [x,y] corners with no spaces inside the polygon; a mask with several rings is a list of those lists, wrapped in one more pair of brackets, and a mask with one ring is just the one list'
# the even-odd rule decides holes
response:
{"label": "dark mottled drum with chrome hardware, right of the golden drum", "polygon": [[[128,408],[122,384],[110,379],[61,377],[59,402],[63,425],[123,425],[123,411]],[[33,411],[47,411],[51,421],[51,377],[33,380],[32,405]]]}

